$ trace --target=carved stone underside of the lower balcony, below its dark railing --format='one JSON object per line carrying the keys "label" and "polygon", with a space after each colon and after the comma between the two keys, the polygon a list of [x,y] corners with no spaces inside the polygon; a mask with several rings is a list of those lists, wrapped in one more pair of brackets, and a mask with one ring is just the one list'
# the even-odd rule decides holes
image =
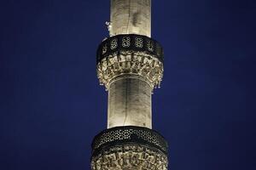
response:
{"label": "carved stone underside of the lower balcony, below its dark railing", "polygon": [[166,170],[165,154],[141,144],[115,145],[91,159],[92,170]]}

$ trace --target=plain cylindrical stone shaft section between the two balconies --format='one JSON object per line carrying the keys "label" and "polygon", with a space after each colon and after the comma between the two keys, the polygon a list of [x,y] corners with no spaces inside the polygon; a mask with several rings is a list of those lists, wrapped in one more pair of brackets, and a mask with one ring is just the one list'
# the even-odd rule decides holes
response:
{"label": "plain cylindrical stone shaft section between the two balconies", "polygon": [[108,128],[119,126],[152,127],[152,88],[132,75],[118,77],[108,89]]}

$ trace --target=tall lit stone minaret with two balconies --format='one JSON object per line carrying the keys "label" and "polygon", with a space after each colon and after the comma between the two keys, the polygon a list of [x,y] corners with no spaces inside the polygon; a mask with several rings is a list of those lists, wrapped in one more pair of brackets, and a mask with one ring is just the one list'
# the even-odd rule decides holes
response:
{"label": "tall lit stone minaret with two balconies", "polygon": [[151,96],[163,77],[163,49],[151,38],[151,0],[111,0],[109,37],[97,49],[108,91],[108,129],[92,142],[93,170],[166,170],[166,140],[152,130]]}

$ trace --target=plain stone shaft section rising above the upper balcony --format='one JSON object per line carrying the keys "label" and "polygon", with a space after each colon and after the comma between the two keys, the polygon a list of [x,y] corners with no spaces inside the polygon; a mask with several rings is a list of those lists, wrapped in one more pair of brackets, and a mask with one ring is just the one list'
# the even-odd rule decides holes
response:
{"label": "plain stone shaft section rising above the upper balcony", "polygon": [[111,0],[110,36],[139,34],[151,37],[151,0]]}

